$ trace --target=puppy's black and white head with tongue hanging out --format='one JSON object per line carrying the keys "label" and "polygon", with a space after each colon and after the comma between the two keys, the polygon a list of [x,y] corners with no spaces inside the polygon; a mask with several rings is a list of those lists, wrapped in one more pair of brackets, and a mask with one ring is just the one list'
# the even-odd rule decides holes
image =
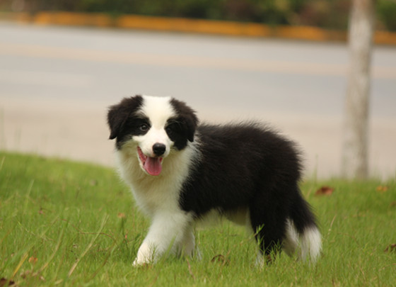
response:
{"label": "puppy's black and white head with tongue hanging out", "polygon": [[147,174],[158,175],[171,150],[182,150],[194,141],[198,119],[182,101],[132,96],[110,106],[107,123],[117,150],[132,149],[141,168]]}

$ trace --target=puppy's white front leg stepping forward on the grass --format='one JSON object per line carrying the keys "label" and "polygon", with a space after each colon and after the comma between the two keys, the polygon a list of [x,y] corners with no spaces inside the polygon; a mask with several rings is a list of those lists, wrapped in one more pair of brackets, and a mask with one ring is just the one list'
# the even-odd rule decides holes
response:
{"label": "puppy's white front leg stepping forward on the grass", "polygon": [[177,252],[184,243],[185,232],[190,230],[191,219],[191,215],[182,211],[156,213],[139,247],[134,266],[155,263],[166,252]]}

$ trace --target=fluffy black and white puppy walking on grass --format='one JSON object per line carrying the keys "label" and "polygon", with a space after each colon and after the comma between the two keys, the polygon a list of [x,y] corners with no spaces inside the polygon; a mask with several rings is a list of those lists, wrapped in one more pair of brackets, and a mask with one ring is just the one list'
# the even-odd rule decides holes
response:
{"label": "fluffy black and white puppy walking on grass", "polygon": [[120,174],[151,219],[135,266],[166,252],[192,256],[195,225],[214,215],[249,227],[259,263],[279,249],[319,256],[293,142],[255,123],[198,125],[194,111],[170,97],[125,98],[107,122]]}

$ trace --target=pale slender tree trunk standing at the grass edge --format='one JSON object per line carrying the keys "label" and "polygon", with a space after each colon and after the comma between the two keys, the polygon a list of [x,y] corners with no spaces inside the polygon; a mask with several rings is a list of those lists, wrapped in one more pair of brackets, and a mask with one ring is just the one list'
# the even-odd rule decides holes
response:
{"label": "pale slender tree trunk standing at the grass edge", "polygon": [[368,107],[375,0],[352,0],[349,78],[344,111],[342,176],[368,177]]}

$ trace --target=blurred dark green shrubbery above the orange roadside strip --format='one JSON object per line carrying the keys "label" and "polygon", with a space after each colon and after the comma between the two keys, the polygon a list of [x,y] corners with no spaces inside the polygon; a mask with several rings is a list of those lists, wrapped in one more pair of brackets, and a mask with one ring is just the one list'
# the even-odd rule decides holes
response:
{"label": "blurred dark green shrubbery above the orange roadside strip", "polygon": [[[350,0],[1,0],[3,11],[103,12],[346,29]],[[396,30],[396,2],[377,0],[378,29]]]}

